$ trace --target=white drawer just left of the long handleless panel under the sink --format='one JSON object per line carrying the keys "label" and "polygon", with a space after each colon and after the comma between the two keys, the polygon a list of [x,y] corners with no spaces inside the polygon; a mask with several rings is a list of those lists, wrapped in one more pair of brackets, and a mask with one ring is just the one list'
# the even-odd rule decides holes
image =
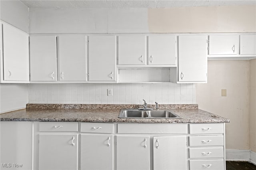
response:
{"label": "white drawer just left of the long handleless panel under the sink", "polygon": [[114,124],[112,123],[81,123],[81,132],[89,133],[113,133]]}

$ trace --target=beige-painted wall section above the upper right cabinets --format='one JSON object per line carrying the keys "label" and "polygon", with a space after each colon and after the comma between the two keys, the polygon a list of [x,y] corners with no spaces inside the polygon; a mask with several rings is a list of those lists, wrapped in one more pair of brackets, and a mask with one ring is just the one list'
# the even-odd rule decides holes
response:
{"label": "beige-painted wall section above the upper right cabinets", "polygon": [[153,8],[150,32],[256,32],[256,6]]}

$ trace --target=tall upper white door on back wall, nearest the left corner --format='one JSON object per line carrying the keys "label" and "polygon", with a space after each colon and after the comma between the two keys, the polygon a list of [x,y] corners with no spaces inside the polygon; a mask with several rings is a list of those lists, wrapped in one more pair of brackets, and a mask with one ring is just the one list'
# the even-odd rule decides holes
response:
{"label": "tall upper white door on back wall, nearest the left corner", "polygon": [[30,81],[57,81],[56,36],[30,36]]}

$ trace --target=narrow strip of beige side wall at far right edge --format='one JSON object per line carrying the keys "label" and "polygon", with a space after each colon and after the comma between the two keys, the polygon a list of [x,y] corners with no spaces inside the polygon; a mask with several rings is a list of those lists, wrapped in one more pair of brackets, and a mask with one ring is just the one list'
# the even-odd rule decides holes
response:
{"label": "narrow strip of beige side wall at far right edge", "polygon": [[256,152],[256,59],[250,61],[250,149]]}

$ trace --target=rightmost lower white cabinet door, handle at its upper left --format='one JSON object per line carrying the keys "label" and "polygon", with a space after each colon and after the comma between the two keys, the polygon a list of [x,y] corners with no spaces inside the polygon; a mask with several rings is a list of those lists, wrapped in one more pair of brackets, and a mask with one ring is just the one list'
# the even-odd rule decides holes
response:
{"label": "rightmost lower white cabinet door, handle at its upper left", "polygon": [[186,136],[154,136],[154,170],[186,170]]}

